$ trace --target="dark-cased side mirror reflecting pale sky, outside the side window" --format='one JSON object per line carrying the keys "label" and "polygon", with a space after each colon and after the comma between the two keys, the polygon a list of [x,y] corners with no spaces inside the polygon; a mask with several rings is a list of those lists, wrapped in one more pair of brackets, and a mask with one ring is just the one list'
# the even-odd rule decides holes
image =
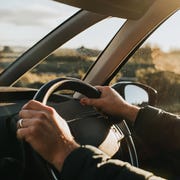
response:
{"label": "dark-cased side mirror reflecting pale sky, outside the side window", "polygon": [[150,86],[137,82],[118,82],[112,86],[127,102],[137,106],[154,106],[157,91]]}

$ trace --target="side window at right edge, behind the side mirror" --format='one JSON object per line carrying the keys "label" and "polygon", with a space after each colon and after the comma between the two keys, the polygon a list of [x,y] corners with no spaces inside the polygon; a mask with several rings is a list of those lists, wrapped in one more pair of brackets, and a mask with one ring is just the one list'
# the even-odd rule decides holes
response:
{"label": "side window at right edge, behind the side mirror", "polygon": [[164,22],[119,71],[118,81],[138,81],[158,92],[156,106],[180,114],[180,12]]}

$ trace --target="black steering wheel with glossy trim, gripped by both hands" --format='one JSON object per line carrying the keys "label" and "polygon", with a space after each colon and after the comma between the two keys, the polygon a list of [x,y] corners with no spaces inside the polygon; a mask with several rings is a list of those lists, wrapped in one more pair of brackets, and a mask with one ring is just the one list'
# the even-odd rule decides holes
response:
{"label": "black steering wheel with glossy trim, gripped by both hands", "polygon": [[[99,98],[101,93],[93,86],[84,83],[75,78],[58,78],[44,84],[35,94],[34,100],[46,104],[49,97],[57,90],[73,90],[89,98]],[[67,98],[66,101],[59,104],[57,112],[67,121],[71,133],[75,140],[80,144],[89,144],[96,147],[105,145],[105,149],[113,149],[112,143],[107,148],[106,141],[116,142],[116,150],[119,148],[119,139],[112,132],[113,123],[89,106],[82,106],[78,99],[73,97]],[[71,111],[70,111],[71,109]],[[116,131],[122,138],[122,132]],[[113,136],[111,136],[113,134]],[[109,136],[110,135],[110,136]],[[109,138],[109,139],[108,139]],[[38,162],[40,169],[46,179],[57,179],[53,167],[41,158],[28,144],[25,144],[25,157],[30,157]],[[117,148],[118,146],[118,148]],[[114,148],[115,149],[115,148]],[[108,153],[108,152],[107,152]],[[115,153],[115,152],[114,152]]]}

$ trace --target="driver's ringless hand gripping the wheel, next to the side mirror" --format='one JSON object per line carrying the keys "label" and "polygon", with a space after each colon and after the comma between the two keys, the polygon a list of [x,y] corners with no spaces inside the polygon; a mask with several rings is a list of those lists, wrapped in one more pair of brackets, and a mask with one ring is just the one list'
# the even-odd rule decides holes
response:
{"label": "driver's ringless hand gripping the wheel, next to the side mirror", "polygon": [[101,91],[100,98],[82,98],[80,100],[82,105],[94,106],[99,111],[134,121],[139,108],[126,102],[113,88],[109,86],[96,86]]}

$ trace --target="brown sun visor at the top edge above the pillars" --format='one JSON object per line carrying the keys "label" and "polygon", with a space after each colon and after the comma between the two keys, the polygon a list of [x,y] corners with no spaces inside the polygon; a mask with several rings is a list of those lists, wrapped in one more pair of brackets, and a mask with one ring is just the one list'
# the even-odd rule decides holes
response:
{"label": "brown sun visor at the top edge above the pillars", "polygon": [[155,0],[55,0],[91,12],[125,19],[139,19]]}

